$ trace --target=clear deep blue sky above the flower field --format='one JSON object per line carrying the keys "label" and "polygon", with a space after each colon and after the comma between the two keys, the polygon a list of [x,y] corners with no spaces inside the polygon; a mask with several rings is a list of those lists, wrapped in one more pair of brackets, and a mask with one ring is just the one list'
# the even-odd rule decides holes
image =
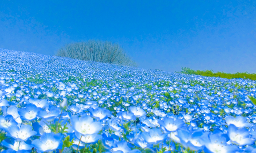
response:
{"label": "clear deep blue sky above the flower field", "polygon": [[109,40],[146,69],[256,73],[256,0],[1,0],[0,48]]}

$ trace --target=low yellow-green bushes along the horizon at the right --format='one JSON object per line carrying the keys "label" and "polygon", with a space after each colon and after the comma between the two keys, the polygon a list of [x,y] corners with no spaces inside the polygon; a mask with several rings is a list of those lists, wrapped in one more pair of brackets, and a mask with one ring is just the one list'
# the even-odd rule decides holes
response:
{"label": "low yellow-green bushes along the horizon at the right", "polygon": [[212,70],[193,70],[187,67],[181,68],[181,72],[177,73],[183,73],[183,74],[196,74],[201,76],[213,76],[213,77],[222,77],[227,79],[233,79],[233,78],[243,78],[243,79],[251,79],[256,80],[256,74],[255,73],[247,73],[247,72],[237,72],[237,73],[225,73],[225,72],[217,72],[214,73]]}

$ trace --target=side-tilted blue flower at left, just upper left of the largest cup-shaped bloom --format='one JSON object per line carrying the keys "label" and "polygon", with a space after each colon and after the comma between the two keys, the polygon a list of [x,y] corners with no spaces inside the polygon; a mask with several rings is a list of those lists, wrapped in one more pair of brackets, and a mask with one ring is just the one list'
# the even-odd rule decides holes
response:
{"label": "side-tilted blue flower at left, just upper left of the largest cup-shaped bloom", "polygon": [[49,109],[41,110],[38,112],[38,117],[45,119],[47,122],[53,121],[60,115],[60,110],[55,106],[49,106]]}

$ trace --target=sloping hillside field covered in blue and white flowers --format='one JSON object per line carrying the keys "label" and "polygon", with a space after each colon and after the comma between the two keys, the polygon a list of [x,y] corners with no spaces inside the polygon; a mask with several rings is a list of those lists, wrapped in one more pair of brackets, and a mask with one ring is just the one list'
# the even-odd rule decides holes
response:
{"label": "sloping hillside field covered in blue and white flowers", "polygon": [[256,81],[0,49],[1,153],[256,153]]}

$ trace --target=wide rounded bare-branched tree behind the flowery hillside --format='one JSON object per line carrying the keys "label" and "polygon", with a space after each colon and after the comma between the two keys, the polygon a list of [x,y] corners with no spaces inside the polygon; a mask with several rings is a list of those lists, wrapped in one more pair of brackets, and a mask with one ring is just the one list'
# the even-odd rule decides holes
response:
{"label": "wide rounded bare-branched tree behind the flowery hillside", "polygon": [[136,66],[136,63],[118,45],[109,41],[89,40],[66,44],[57,51],[57,56],[109,64]]}

